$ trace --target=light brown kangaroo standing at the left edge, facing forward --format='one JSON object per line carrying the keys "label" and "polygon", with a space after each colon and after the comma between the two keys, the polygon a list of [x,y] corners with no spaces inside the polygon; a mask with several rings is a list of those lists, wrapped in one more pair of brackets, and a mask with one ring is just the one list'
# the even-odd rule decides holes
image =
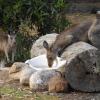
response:
{"label": "light brown kangaroo standing at the left edge, facing forward", "polygon": [[15,35],[0,34],[0,52],[6,56],[7,62],[10,62],[9,53],[12,51],[12,62],[16,52]]}

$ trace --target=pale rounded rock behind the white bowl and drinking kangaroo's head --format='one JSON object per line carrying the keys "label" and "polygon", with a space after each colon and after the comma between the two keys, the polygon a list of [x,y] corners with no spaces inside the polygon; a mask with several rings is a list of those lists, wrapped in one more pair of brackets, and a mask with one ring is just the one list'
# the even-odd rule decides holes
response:
{"label": "pale rounded rock behind the white bowl and drinking kangaroo's head", "polygon": [[33,43],[31,51],[30,51],[31,58],[46,53],[46,50],[43,47],[43,41],[46,40],[49,44],[52,44],[55,41],[57,35],[58,34],[56,33],[47,34],[40,37],[38,40],[36,40],[36,42]]}

